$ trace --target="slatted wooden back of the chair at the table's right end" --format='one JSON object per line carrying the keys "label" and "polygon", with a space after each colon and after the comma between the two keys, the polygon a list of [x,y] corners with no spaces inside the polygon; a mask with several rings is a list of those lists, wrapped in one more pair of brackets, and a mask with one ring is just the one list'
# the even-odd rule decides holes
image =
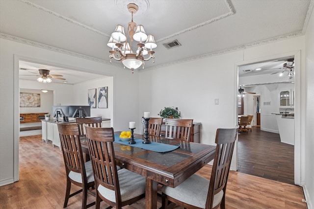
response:
{"label": "slatted wooden back of the chair at the table's right end", "polygon": [[217,129],[216,131],[215,142],[217,145],[209,181],[206,208],[212,208],[214,195],[222,189],[225,195],[237,131],[238,128]]}

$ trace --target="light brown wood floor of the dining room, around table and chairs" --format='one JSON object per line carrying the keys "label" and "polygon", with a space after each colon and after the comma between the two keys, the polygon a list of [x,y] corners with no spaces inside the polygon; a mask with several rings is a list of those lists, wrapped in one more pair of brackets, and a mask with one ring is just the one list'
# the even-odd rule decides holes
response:
{"label": "light brown wood floor of the dining room, around table and chairs", "polygon": [[[210,172],[211,166],[206,165],[198,174],[209,178]],[[40,135],[22,137],[20,181],[0,187],[0,209],[62,209],[65,188],[65,168],[59,148],[42,142]],[[73,190],[76,188],[72,186]],[[302,199],[302,187],[230,171],[227,209],[306,209]],[[87,203],[94,200],[95,197],[89,195]],[[157,206],[161,206],[160,199]],[[81,194],[70,198],[67,208],[81,208]],[[104,202],[101,208],[105,208]],[[144,199],[125,207],[144,208]]]}

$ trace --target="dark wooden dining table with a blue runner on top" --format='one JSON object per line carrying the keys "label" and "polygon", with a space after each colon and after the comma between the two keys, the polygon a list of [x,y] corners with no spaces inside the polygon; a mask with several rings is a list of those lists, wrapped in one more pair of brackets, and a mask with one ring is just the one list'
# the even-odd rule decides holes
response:
{"label": "dark wooden dining table with a blue runner on top", "polygon": [[[116,163],[122,168],[145,176],[145,209],[157,209],[158,184],[176,187],[214,159],[216,146],[180,139],[149,136],[150,144],[143,144],[144,135],[134,134],[135,144],[119,138],[114,132]],[[155,150],[169,146],[172,151]],[[86,138],[81,139],[83,153],[89,153]],[[155,150],[155,151],[154,151]]]}

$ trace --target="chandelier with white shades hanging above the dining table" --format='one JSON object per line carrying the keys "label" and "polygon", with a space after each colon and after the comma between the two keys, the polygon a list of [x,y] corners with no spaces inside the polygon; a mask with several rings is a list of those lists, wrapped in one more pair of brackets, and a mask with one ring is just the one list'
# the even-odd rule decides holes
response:
{"label": "chandelier with white shades hanging above the dining table", "polygon": [[[124,68],[127,67],[131,69],[133,73],[134,70],[140,66],[144,69],[144,61],[153,58],[153,63],[155,63],[155,51],[153,51],[153,48],[156,48],[157,44],[153,35],[147,35],[145,33],[143,25],[136,25],[136,23],[133,22],[133,14],[138,11],[138,6],[134,3],[129,3],[128,10],[131,13],[132,19],[131,22],[128,23],[127,36],[124,33],[124,27],[118,24],[111,34],[107,46],[111,48],[109,51],[110,63],[112,58],[117,61],[122,61]],[[136,45],[136,53],[132,50],[133,41],[138,42]],[[145,58],[144,55],[147,54],[149,54],[149,57]]]}

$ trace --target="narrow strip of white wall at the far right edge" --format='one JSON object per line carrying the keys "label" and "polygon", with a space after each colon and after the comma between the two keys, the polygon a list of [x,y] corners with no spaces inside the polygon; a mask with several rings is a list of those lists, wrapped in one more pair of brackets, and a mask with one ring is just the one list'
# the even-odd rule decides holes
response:
{"label": "narrow strip of white wall at the far right edge", "polygon": [[308,24],[305,35],[306,43],[306,121],[304,123],[305,130],[305,195],[309,209],[314,209],[314,14]]}

